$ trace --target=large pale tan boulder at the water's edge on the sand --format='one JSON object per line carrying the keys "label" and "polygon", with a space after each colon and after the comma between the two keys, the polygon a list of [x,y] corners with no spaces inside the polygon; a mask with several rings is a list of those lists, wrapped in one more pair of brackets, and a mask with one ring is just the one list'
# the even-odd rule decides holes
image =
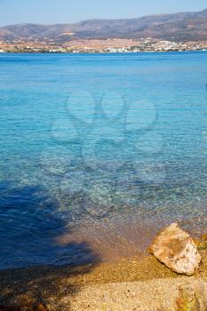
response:
{"label": "large pale tan boulder at the water's edge on the sand", "polygon": [[177,223],[171,224],[156,235],[149,251],[179,274],[194,275],[201,262],[195,242]]}

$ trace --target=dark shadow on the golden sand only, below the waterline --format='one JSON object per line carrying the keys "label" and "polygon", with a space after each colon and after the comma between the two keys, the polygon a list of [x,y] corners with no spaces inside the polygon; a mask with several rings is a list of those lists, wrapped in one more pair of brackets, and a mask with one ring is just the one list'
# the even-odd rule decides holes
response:
{"label": "dark shadow on the golden sand only, below the waterline", "polygon": [[[42,302],[49,310],[63,310],[61,299],[75,295],[80,290],[81,283],[84,284],[82,276],[90,273],[99,263],[99,259],[86,243],[81,243],[78,247],[90,254],[91,263],[79,266],[29,267],[1,271],[0,306],[20,307],[20,310],[30,311],[33,310],[31,306]],[[69,299],[67,307],[69,310]]]}

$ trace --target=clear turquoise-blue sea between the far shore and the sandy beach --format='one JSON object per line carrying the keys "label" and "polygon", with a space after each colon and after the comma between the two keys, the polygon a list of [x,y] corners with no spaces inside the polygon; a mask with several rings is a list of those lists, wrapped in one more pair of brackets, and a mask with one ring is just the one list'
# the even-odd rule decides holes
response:
{"label": "clear turquoise-blue sea between the far shore and the sandy beach", "polygon": [[0,55],[0,268],[203,230],[206,73],[207,52]]}

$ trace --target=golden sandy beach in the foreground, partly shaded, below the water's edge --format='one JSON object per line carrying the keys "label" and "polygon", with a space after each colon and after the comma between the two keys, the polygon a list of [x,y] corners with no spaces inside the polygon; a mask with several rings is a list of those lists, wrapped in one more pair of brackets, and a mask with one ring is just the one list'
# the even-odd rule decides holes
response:
{"label": "golden sandy beach in the foreground, partly shaded, below the water's edge", "polygon": [[0,305],[31,310],[41,301],[50,311],[167,310],[178,299],[180,286],[207,291],[207,251],[201,254],[203,264],[195,277],[180,276],[153,256],[81,267],[4,270]]}

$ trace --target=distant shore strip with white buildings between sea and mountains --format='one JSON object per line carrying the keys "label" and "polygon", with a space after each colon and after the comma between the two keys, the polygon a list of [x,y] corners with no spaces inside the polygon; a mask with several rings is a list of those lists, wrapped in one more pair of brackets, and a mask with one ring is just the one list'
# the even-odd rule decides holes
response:
{"label": "distant shore strip with white buildings between sea and mountains", "polygon": [[87,39],[65,44],[32,41],[0,41],[0,52],[30,53],[139,53],[139,52],[185,52],[207,51],[207,41],[176,42],[147,39]]}

